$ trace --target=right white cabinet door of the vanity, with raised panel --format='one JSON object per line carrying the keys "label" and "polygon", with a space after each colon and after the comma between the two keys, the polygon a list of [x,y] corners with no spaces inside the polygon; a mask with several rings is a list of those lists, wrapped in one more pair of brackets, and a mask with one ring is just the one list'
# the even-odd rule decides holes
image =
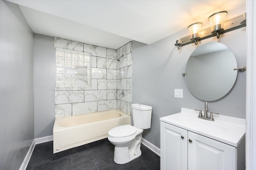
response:
{"label": "right white cabinet door of the vanity, with raised panel", "polygon": [[188,131],[188,170],[236,170],[236,148]]}

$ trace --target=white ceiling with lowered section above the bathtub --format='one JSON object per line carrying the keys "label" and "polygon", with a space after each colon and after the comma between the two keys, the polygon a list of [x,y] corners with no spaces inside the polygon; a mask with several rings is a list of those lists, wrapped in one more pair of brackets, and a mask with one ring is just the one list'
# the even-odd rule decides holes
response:
{"label": "white ceiling with lowered section above the bathtub", "polygon": [[[131,40],[151,44],[227,10],[246,12],[246,0],[8,0],[19,4],[34,33],[117,49]],[[233,12],[232,12],[233,11]]]}

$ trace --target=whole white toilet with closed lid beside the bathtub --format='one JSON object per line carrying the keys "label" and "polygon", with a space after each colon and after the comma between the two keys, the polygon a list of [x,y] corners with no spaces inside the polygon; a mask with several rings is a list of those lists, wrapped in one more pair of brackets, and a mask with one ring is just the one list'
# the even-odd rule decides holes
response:
{"label": "whole white toilet with closed lid beside the bathtub", "polygon": [[141,155],[140,143],[143,129],[151,127],[152,107],[132,104],[133,124],[112,128],[108,140],[115,145],[114,162],[125,164]]}

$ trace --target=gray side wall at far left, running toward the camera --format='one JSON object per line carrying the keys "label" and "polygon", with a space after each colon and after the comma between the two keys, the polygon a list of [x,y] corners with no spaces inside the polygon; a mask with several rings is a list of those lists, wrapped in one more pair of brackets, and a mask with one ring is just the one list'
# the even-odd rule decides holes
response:
{"label": "gray side wall at far left, running toward the camera", "polygon": [[34,140],[33,32],[0,0],[0,169],[20,168]]}

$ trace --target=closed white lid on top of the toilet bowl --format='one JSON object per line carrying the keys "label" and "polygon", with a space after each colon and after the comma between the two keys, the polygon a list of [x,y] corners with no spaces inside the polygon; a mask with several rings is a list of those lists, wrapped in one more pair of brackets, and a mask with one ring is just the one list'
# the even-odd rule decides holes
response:
{"label": "closed white lid on top of the toilet bowl", "polygon": [[135,134],[136,128],[132,127],[131,125],[122,125],[119,127],[112,128],[108,131],[108,135],[112,137],[127,137]]}

